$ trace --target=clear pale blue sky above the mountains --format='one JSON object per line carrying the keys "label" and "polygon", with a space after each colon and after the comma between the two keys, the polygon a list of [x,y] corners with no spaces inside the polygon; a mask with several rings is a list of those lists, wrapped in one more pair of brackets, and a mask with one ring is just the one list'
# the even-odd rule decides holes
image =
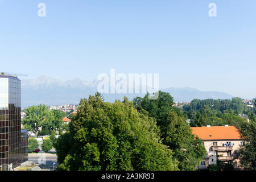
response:
{"label": "clear pale blue sky above the mountains", "polygon": [[254,0],[0,0],[0,71],[92,81],[114,68],[159,73],[160,88],[253,98],[255,9]]}

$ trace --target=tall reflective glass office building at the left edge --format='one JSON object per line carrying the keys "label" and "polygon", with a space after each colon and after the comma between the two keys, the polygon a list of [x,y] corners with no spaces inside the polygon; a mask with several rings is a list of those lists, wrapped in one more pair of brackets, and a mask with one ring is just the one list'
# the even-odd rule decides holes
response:
{"label": "tall reflective glass office building at the left edge", "polygon": [[20,80],[0,75],[0,171],[18,167],[22,162]]}

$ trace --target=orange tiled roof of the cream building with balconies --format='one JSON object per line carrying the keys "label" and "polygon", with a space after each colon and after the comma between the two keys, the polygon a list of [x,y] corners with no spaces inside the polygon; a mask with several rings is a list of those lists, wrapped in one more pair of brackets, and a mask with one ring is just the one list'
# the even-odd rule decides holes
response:
{"label": "orange tiled roof of the cream building with balconies", "polygon": [[194,135],[203,140],[241,139],[240,131],[234,126],[203,126],[191,127],[191,129]]}

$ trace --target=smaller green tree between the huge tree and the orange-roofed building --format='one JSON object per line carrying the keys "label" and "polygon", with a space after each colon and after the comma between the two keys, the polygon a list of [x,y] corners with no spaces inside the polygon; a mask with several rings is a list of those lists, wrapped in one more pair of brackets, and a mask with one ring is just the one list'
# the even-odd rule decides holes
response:
{"label": "smaller green tree between the huge tree and the orange-roofed building", "polygon": [[163,143],[174,152],[174,158],[179,160],[180,170],[196,170],[197,164],[207,154],[202,145],[203,140],[192,134],[189,124],[175,111],[167,114],[166,126],[162,127],[162,138]]}

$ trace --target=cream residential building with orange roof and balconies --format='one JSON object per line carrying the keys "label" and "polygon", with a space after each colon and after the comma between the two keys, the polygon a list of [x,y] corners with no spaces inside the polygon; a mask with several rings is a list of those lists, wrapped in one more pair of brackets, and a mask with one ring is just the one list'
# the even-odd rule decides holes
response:
{"label": "cream residential building with orange roof and balconies", "polygon": [[203,139],[207,150],[205,159],[197,166],[198,169],[207,169],[209,164],[220,160],[233,164],[235,169],[241,169],[240,162],[236,159],[237,151],[243,145],[240,131],[234,126],[203,126],[191,127],[192,133]]}

